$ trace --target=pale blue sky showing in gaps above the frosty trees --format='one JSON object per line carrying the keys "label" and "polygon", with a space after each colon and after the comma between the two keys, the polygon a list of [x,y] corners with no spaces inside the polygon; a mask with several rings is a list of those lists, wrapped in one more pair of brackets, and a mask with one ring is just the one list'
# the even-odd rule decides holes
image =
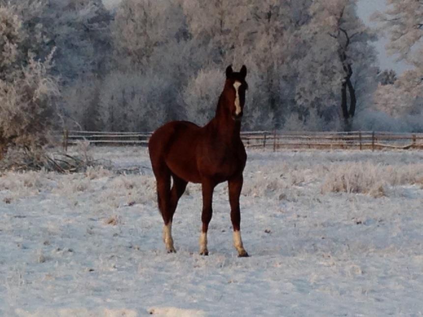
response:
{"label": "pale blue sky showing in gaps above the frosty trees", "polygon": [[[106,7],[111,8],[121,0],[103,0]],[[376,11],[384,11],[386,8],[385,0],[359,0],[358,1],[358,14],[363,21],[375,27],[376,24],[370,21],[370,16]],[[379,67],[384,69],[393,69],[397,74],[401,74],[404,70],[409,68],[404,62],[396,62],[395,56],[388,56],[385,46],[388,43],[387,37],[380,36],[379,40],[374,43],[377,52],[379,53]]]}

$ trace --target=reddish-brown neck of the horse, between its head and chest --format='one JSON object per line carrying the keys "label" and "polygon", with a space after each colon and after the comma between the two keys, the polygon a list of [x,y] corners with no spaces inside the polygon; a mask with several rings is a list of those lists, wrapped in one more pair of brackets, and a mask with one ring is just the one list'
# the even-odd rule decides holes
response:
{"label": "reddish-brown neck of the horse, between its head and chest", "polygon": [[233,120],[231,114],[226,110],[224,97],[219,98],[216,109],[216,115],[211,120],[211,125],[218,135],[228,141],[236,141],[240,139],[241,122]]}

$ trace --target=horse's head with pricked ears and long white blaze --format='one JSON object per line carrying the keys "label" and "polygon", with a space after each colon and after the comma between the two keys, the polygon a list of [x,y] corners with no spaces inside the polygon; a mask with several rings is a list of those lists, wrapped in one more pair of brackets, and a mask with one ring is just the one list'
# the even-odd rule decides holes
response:
{"label": "horse's head with pricked ears and long white blaze", "polygon": [[228,103],[232,119],[239,121],[242,118],[244,104],[245,104],[245,91],[248,89],[248,84],[245,81],[247,76],[247,67],[243,65],[239,72],[232,70],[232,65],[226,68],[226,83],[225,83],[225,100]]}

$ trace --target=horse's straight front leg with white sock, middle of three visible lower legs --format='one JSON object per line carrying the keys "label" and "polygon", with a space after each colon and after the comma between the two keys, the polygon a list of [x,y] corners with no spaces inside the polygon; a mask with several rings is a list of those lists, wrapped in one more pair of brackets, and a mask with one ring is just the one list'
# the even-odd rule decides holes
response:
{"label": "horse's straight front leg with white sock, middle of three visible lower legs", "polygon": [[202,228],[199,240],[200,255],[209,255],[209,251],[207,250],[207,230],[213,214],[212,200],[213,190],[216,184],[211,180],[205,179],[201,182],[201,185],[203,194],[203,210],[201,213]]}

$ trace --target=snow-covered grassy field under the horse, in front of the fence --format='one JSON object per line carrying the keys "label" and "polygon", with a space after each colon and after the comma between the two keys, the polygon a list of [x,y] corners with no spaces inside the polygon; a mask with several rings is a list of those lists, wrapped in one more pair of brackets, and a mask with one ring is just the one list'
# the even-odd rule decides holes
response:
{"label": "snow-covered grassy field under the horse, in front of the fence", "polygon": [[113,169],[0,174],[0,316],[422,316],[423,152],[249,152],[244,246],[226,185],[210,255],[189,185],[162,242],[144,148],[92,148]]}

